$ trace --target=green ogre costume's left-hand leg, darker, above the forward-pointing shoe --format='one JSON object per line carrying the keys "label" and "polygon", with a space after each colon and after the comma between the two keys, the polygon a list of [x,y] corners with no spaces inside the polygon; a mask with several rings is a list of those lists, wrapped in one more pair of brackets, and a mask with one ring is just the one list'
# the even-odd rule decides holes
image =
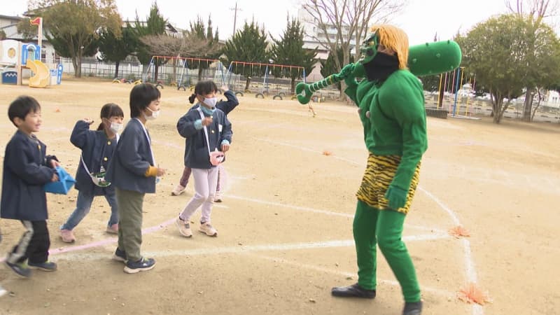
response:
{"label": "green ogre costume's left-hand leg, darker, above the forward-pointing shoe", "polygon": [[379,210],[358,200],[353,222],[354,243],[358,258],[358,284],[367,290],[375,290],[377,279],[377,248],[375,227]]}

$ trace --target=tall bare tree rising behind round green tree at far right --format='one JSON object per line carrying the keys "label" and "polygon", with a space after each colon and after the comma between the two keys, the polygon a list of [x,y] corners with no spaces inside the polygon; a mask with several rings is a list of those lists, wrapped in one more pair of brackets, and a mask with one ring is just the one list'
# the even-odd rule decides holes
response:
{"label": "tall bare tree rising behind round green tree at far right", "polygon": [[[510,1],[507,0],[506,2],[507,8],[521,18],[526,18],[531,22],[532,29],[535,36],[538,36],[538,30],[543,23],[545,18],[552,18],[555,15],[558,15],[559,12],[559,0],[515,0]],[[528,53],[531,54],[528,60],[533,61],[536,63],[534,56],[534,51],[536,49],[535,42],[532,41],[529,43],[533,45],[532,48],[528,50]],[[531,71],[537,72],[537,71]],[[537,104],[540,105],[540,89],[538,86],[538,73],[527,73],[526,74],[526,92],[525,92],[525,103],[524,103],[524,111],[523,111],[523,120],[531,121],[533,120],[533,116],[535,116],[535,111],[531,111],[533,107],[533,98],[535,94],[539,95],[539,101]]]}

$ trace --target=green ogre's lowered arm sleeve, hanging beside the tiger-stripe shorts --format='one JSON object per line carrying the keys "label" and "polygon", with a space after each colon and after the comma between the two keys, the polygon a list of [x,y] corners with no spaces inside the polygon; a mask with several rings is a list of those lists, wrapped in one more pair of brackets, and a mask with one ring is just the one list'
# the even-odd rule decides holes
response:
{"label": "green ogre's lowered arm sleeve, hanging beside the tiger-stripe shorts", "polygon": [[416,165],[428,147],[423,89],[411,73],[391,87],[379,94],[384,112],[395,119],[402,132],[402,157],[391,186],[408,191]]}

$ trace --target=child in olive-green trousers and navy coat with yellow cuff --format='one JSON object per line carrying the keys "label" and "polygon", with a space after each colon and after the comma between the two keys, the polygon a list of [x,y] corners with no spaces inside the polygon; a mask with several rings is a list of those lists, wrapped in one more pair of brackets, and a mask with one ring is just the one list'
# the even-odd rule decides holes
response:
{"label": "child in olive-green trousers and navy coat with yellow cuff", "polygon": [[153,258],[140,253],[142,244],[142,208],[144,195],[155,193],[156,177],[165,169],[156,167],[151,137],[146,129],[148,120],[160,115],[160,90],[150,83],[135,85],[130,92],[130,122],[117,144],[106,180],[115,187],[118,214],[118,246],[114,260],[125,262],[129,274],[150,270]]}

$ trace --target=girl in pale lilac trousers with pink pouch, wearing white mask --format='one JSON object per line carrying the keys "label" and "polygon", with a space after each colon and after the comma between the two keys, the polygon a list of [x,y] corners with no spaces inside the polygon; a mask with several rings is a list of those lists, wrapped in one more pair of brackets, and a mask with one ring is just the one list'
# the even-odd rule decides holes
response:
{"label": "girl in pale lilac trousers with pink pouch, wearing white mask", "polygon": [[223,153],[230,148],[232,127],[223,111],[216,109],[218,87],[211,80],[200,81],[195,86],[195,96],[199,106],[193,106],[179,119],[177,130],[186,138],[185,165],[193,169],[195,195],[176,220],[179,232],[184,237],[192,237],[190,217],[202,206],[200,232],[218,236],[211,225],[210,214],[214,204],[218,167],[211,163],[210,153],[221,149]]}

